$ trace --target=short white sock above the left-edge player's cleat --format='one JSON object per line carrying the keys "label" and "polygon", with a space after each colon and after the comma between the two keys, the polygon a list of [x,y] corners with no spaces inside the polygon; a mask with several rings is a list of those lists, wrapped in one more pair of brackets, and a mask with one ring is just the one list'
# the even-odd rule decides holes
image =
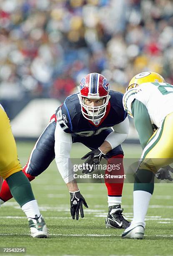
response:
{"label": "short white sock above the left-edge player's cleat", "polygon": [[25,203],[25,205],[22,206],[22,210],[25,212],[27,218],[35,218],[35,215],[40,217],[37,200],[32,200]]}

